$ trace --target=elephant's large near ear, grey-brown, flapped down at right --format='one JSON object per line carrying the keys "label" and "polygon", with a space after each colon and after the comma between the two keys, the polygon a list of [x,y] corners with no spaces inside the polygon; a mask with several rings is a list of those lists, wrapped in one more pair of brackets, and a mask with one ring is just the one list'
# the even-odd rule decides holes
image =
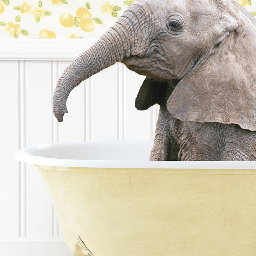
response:
{"label": "elephant's large near ear, grey-brown, flapped down at right", "polygon": [[241,7],[234,12],[238,27],[181,79],[167,101],[169,112],[181,121],[256,130],[256,22]]}

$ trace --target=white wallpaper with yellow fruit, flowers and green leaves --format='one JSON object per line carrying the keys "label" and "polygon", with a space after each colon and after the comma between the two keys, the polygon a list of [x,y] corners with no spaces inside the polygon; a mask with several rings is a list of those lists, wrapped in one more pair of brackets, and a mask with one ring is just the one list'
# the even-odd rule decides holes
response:
{"label": "white wallpaper with yellow fruit, flowers and green leaves", "polygon": [[[134,0],[0,0],[0,38],[98,38]],[[256,17],[256,0],[236,0]]]}

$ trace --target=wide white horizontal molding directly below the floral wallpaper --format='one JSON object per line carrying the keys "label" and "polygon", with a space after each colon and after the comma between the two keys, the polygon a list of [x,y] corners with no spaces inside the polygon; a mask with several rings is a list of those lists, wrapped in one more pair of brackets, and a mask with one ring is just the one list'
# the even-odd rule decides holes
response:
{"label": "wide white horizontal molding directly below the floral wallpaper", "polygon": [[74,60],[97,39],[0,39],[0,60]]}

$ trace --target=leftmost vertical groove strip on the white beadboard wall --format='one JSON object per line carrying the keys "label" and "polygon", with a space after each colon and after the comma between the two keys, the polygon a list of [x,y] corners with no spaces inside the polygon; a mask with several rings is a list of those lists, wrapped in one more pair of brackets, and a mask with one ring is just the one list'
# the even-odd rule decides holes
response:
{"label": "leftmost vertical groove strip on the white beadboard wall", "polygon": [[[20,148],[27,146],[27,62],[20,61],[19,63],[19,118],[20,118]],[[19,212],[20,224],[19,235],[27,236],[27,164],[20,163],[19,170]]]}

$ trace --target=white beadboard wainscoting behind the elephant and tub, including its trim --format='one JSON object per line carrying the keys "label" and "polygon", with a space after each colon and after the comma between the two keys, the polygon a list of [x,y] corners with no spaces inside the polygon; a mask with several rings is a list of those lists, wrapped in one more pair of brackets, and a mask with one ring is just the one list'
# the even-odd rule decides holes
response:
{"label": "white beadboard wainscoting behind the elephant and tub, including its trim", "polygon": [[34,166],[17,162],[15,152],[58,142],[152,140],[158,106],[135,109],[144,76],[117,63],[71,92],[69,113],[58,123],[52,113],[57,80],[95,40],[0,42],[0,255],[70,256],[41,177]]}

